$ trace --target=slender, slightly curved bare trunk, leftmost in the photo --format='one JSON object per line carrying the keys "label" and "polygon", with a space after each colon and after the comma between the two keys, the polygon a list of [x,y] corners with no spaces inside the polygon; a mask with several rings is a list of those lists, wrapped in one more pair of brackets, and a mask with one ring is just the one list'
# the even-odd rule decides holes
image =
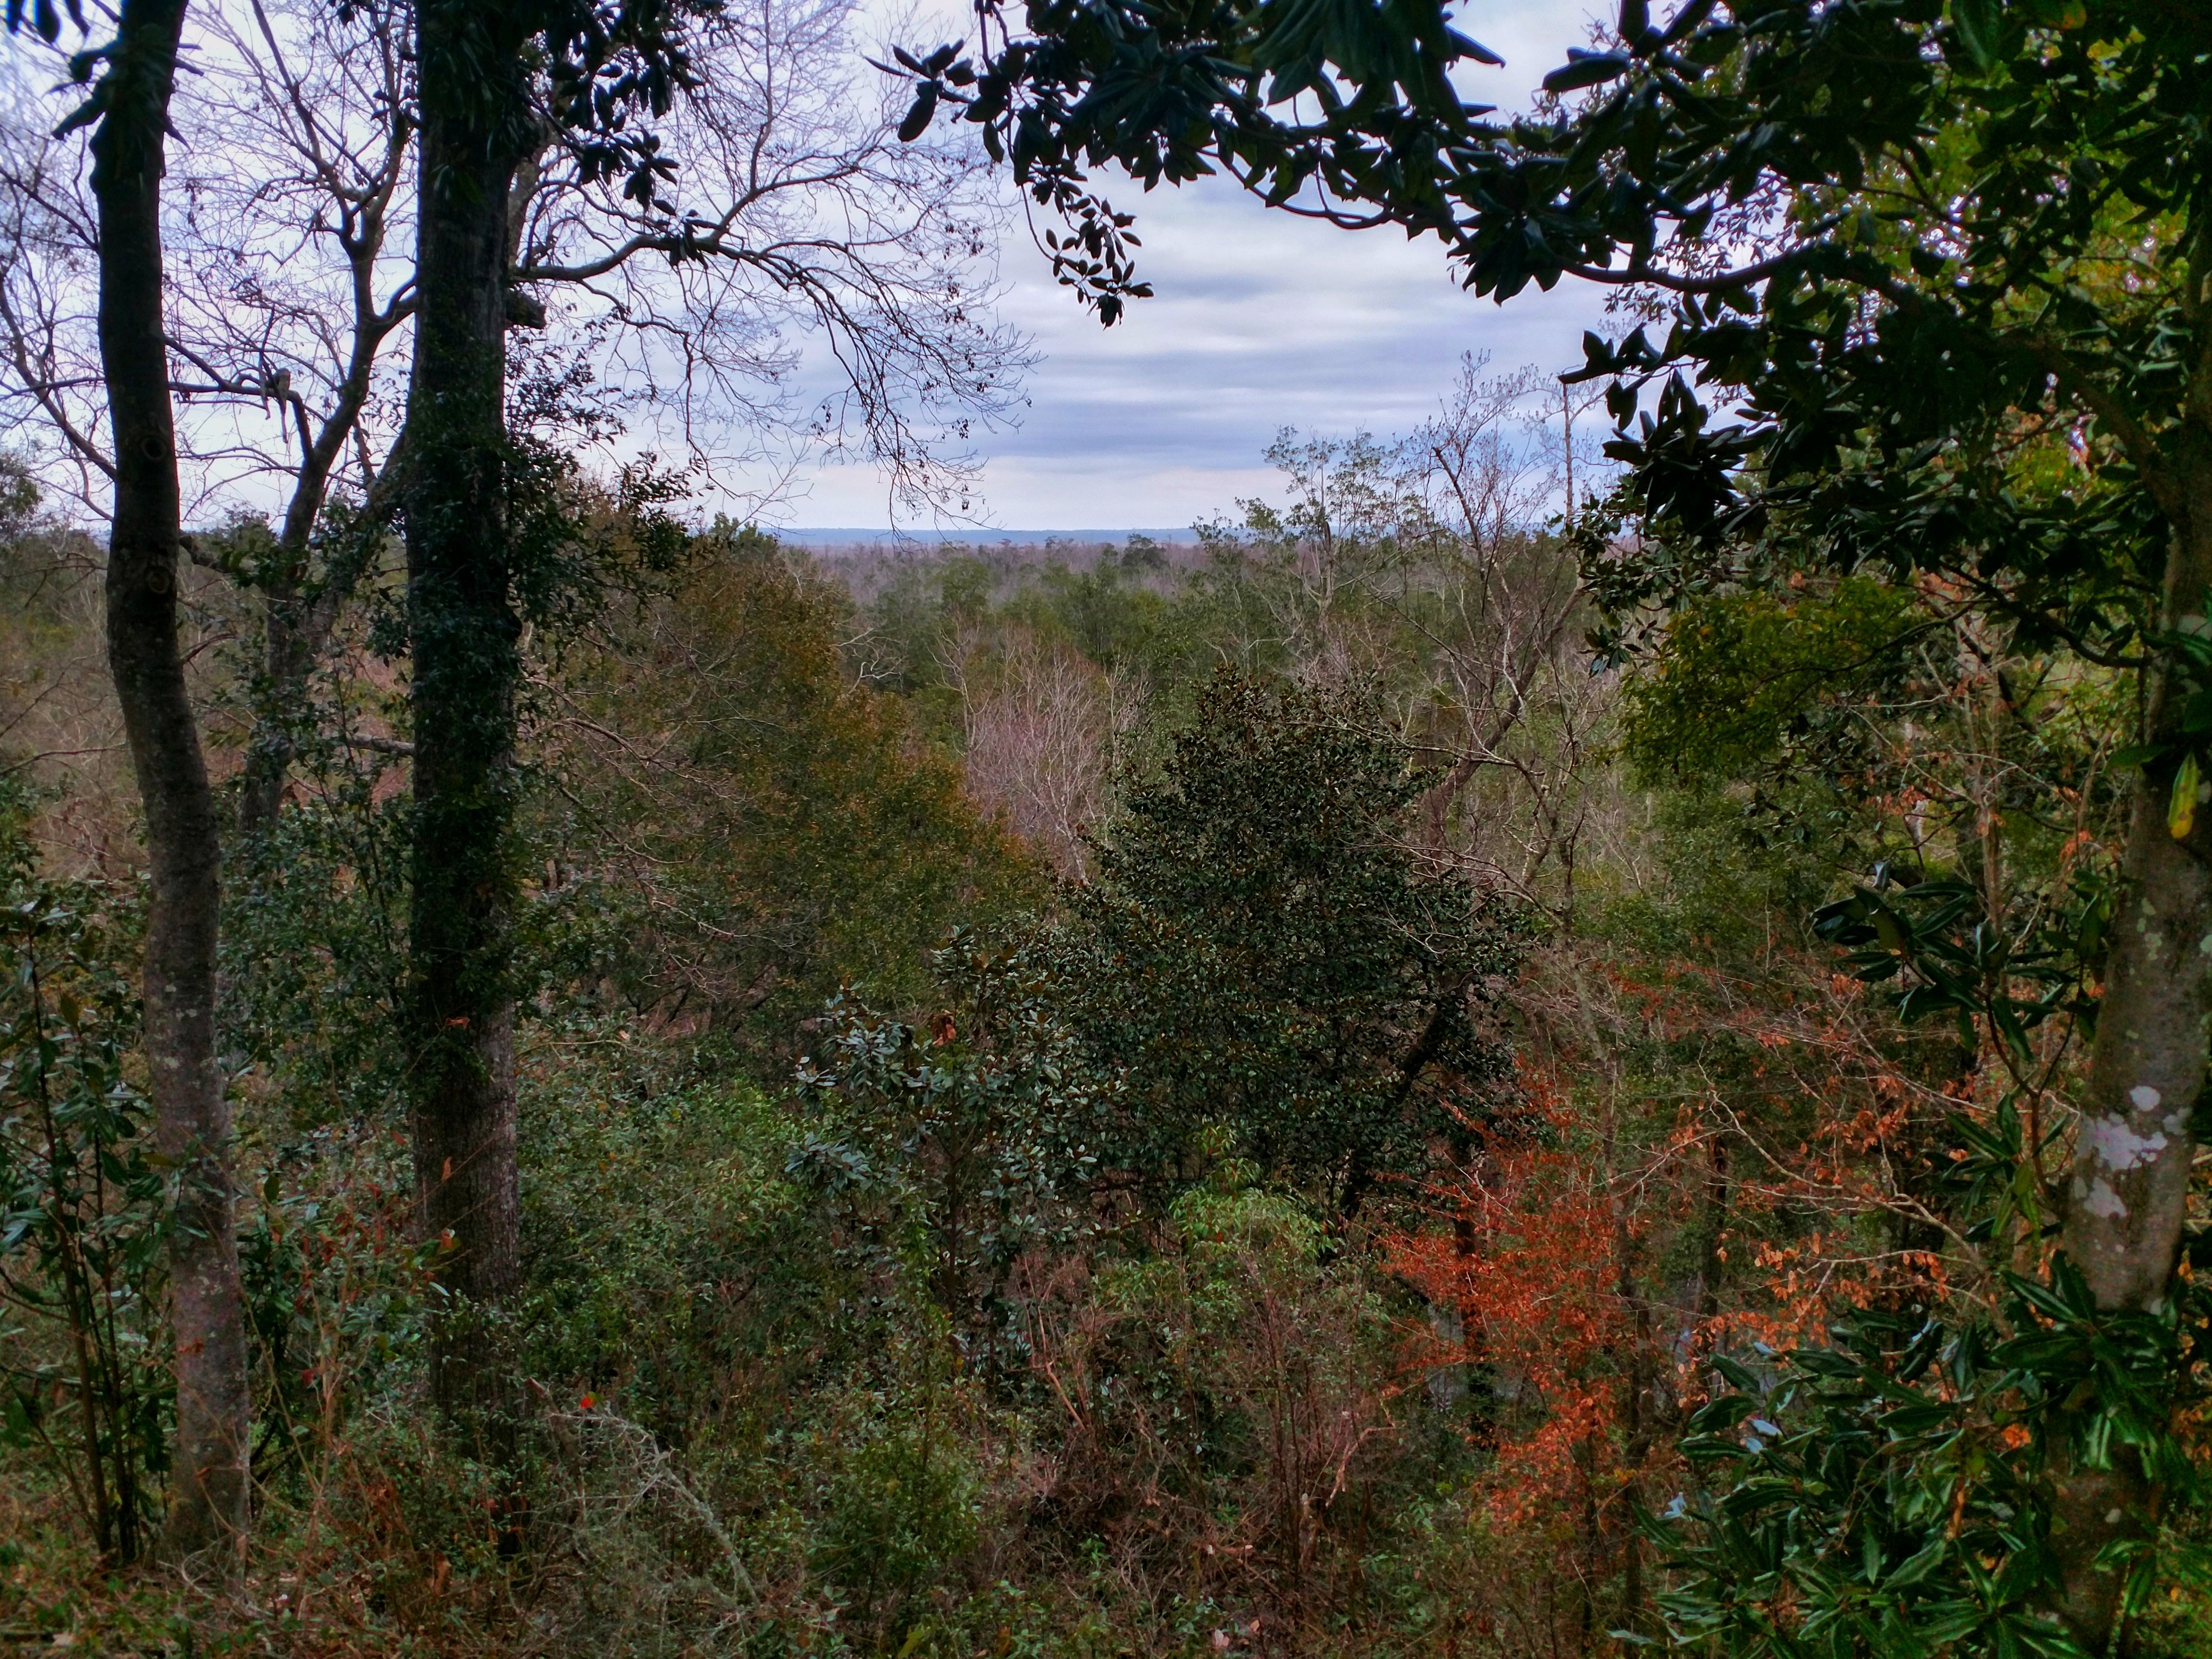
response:
{"label": "slender, slightly curved bare trunk, leftmost in the photo", "polygon": [[230,1106],[215,1055],[221,832],[177,646],[181,504],[161,336],[161,170],[184,0],[124,0],[93,135],[100,363],[115,438],[108,668],[146,805],[146,1060],[161,1155],[177,1172],[170,1305],[177,1451],[166,1548],[246,1526],[246,1316],[230,1190]]}

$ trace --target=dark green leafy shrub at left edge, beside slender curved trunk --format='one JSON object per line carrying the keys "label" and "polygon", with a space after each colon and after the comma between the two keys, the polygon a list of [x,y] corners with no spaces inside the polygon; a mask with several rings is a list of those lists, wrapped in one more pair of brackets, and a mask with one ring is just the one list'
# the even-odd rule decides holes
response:
{"label": "dark green leafy shrub at left edge, beside slender curved trunk", "polygon": [[126,1564],[153,1537],[173,1402],[170,1194],[126,1073],[139,918],[100,885],[42,878],[27,810],[0,779],[0,1447],[49,1458]]}

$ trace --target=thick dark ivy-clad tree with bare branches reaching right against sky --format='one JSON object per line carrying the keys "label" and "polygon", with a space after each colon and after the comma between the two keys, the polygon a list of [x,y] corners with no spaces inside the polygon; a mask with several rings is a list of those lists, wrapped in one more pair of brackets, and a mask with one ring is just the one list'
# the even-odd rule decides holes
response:
{"label": "thick dark ivy-clad tree with bare branches reaching right against sky", "polygon": [[[540,321],[540,285],[573,283],[604,303],[604,321],[637,332],[650,385],[653,343],[670,332],[653,296],[670,299],[688,319],[672,330],[686,363],[675,383],[688,389],[690,372],[708,385],[759,374],[779,316],[761,296],[781,292],[781,316],[796,307],[832,336],[869,453],[925,495],[949,476],[916,420],[945,414],[958,438],[998,407],[1020,361],[949,279],[975,254],[958,215],[967,168],[889,164],[874,126],[838,124],[834,75],[807,69],[843,15],[770,11],[754,40],[703,0],[613,13],[566,0],[418,7],[416,356],[398,493],[416,805],[409,1024],[422,1225],[451,1239],[447,1281],[469,1303],[495,1307],[515,1261],[518,604],[557,586],[546,560],[566,557],[560,515],[526,502],[533,467],[509,434],[509,325]],[[794,20],[803,27],[787,31]],[[792,131],[779,126],[785,97]],[[701,199],[721,190],[723,206],[679,201],[664,137],[697,150]],[[659,288],[637,274],[648,259],[668,268]],[[836,434],[838,409],[818,425]],[[471,1387],[456,1374],[440,1396],[460,1402]]]}

